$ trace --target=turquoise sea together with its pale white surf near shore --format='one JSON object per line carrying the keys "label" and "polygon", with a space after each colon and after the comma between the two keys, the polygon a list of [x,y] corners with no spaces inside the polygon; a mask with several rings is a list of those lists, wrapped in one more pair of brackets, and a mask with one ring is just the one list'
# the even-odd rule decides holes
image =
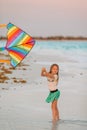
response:
{"label": "turquoise sea together with its pale white surf near shore", "polygon": [[[0,41],[0,47],[5,45],[6,41]],[[87,63],[87,41],[36,41],[32,52],[49,56],[64,55],[77,62]]]}

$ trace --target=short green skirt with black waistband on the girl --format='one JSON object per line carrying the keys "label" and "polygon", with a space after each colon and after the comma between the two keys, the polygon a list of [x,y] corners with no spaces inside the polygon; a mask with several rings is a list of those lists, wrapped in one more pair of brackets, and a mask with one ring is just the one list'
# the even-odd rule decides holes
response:
{"label": "short green skirt with black waistband on the girl", "polygon": [[46,102],[50,103],[53,102],[54,100],[58,100],[58,98],[60,97],[60,91],[54,91],[54,92],[50,92],[48,97],[46,98]]}

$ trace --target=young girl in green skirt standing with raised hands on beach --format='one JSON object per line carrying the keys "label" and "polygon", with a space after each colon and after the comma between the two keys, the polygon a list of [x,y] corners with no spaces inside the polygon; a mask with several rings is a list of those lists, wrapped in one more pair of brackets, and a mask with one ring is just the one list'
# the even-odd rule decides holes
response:
{"label": "young girl in green skirt standing with raised hands on beach", "polygon": [[41,76],[47,77],[48,88],[50,92],[46,99],[46,102],[52,102],[51,108],[53,121],[57,121],[59,120],[59,110],[57,107],[57,103],[60,96],[60,91],[57,89],[57,84],[59,80],[59,66],[57,64],[51,65],[49,72],[47,72],[46,68],[42,68]]}

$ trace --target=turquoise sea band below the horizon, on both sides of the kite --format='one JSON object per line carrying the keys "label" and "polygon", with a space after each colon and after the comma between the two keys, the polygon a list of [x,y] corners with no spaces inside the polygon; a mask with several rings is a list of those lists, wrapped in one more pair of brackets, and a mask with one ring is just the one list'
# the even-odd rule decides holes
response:
{"label": "turquoise sea band below the horizon, on both sides of the kite", "polygon": [[[6,45],[6,41],[0,41],[0,47]],[[58,51],[62,52],[77,52],[86,54],[87,53],[87,41],[36,41],[34,51],[42,50],[55,50],[56,54]],[[73,53],[73,52],[72,52]]]}

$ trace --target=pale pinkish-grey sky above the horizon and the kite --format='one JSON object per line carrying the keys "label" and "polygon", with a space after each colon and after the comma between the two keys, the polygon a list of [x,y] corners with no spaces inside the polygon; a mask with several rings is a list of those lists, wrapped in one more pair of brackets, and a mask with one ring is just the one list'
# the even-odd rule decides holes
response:
{"label": "pale pinkish-grey sky above the horizon and the kite", "polygon": [[9,22],[32,36],[87,37],[87,0],[0,0],[0,24]]}

